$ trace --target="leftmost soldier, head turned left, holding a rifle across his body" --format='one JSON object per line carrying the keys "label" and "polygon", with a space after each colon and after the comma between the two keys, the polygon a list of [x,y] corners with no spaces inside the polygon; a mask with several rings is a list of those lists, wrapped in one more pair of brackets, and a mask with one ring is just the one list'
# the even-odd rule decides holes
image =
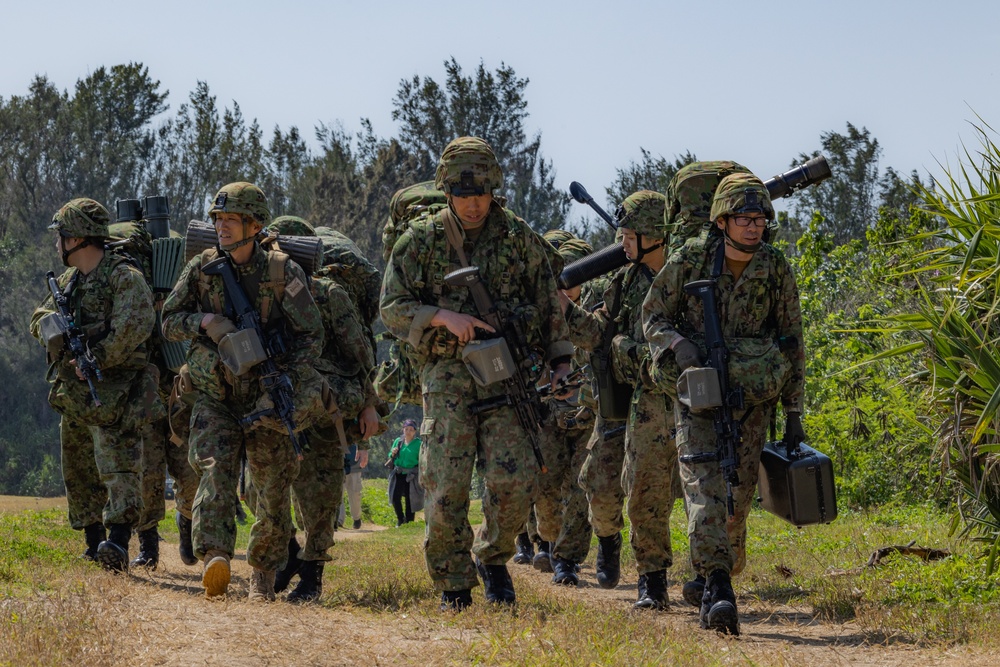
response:
{"label": "leftmost soldier, head turned left, holding a rifle across his body", "polygon": [[[52,217],[56,250],[69,267],[58,279],[73,323],[102,379],[100,404],[61,332],[52,296],[31,316],[31,334],[49,349],[55,373],[49,403],[62,416],[59,437],[70,525],[83,530],[85,557],[106,569],[128,568],[132,527],[142,512],[140,429],[148,421],[137,409],[146,373],[145,341],[153,329],[153,299],[142,273],[105,250],[108,211],[93,199],[68,202]],[[155,382],[155,378],[153,378]],[[162,411],[162,405],[160,405]]]}

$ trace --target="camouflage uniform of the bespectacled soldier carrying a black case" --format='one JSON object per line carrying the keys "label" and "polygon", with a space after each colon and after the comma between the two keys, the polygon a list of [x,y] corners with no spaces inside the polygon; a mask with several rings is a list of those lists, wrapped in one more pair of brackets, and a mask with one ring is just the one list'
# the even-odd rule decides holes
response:
{"label": "camouflage uniform of the bespectacled soldier carrying a black case", "polygon": [[[725,184],[724,179],[720,191]],[[706,354],[701,300],[685,294],[683,288],[686,283],[712,275],[722,243],[713,235],[676,250],[656,276],[643,304],[643,328],[653,359],[651,373],[659,386],[674,396],[679,369],[671,345],[687,338],[698,345],[702,358]],[[737,420],[746,419],[739,451],[740,484],[733,489],[733,518],[727,520],[726,485],[718,463],[681,464],[691,559],[695,571],[703,575],[715,570],[736,574],[743,569],[746,518],[757,487],[757,465],[766,431],[779,395],[786,412],[801,411],[805,368],[801,345],[794,352],[782,352],[777,347],[780,337],[802,340],[798,288],[785,257],[763,243],[739,280],[734,280],[728,266],[723,265],[716,295],[722,333],[730,351],[730,378],[735,386],[744,387],[747,404],[753,407],[734,411],[733,415]],[[694,414],[679,402],[674,408],[680,455],[714,453],[712,413]]]}

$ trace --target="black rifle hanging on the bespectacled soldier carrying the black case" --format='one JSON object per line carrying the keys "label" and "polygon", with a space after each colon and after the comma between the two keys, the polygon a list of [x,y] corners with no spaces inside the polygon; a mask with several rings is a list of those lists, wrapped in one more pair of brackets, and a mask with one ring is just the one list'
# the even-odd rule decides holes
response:
{"label": "black rifle hanging on the bespectacled soldier carrying the black case", "polygon": [[705,311],[705,344],[708,346],[708,365],[719,382],[721,400],[715,408],[712,425],[715,427],[716,451],[714,453],[688,454],[680,457],[682,463],[707,463],[718,461],[722,476],[726,479],[726,508],[729,516],[735,512],[733,487],[739,486],[737,467],[740,463],[739,445],[742,442],[742,422],[733,417],[733,410],[742,410],[743,387],[733,387],[729,382],[729,350],[722,337],[722,323],[715,300],[715,285],[718,279],[695,280],[684,285],[684,291],[701,298]]}

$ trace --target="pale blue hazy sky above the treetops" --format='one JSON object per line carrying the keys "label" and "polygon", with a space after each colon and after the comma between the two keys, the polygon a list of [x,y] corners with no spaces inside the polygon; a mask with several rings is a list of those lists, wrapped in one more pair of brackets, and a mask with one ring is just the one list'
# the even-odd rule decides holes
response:
{"label": "pale blue hazy sky above the treetops", "polygon": [[[1000,2],[263,2],[43,0],[4,10],[0,96],[137,61],[173,110],[198,81],[265,138],[369,118],[398,127],[404,78],[501,63],[530,80],[527,127],[556,184],[601,202],[640,147],[731,159],[765,180],[825,132],[867,128],[880,166],[940,175],[977,115],[1000,127]],[[315,144],[314,144],[315,146]],[[576,211],[574,211],[576,213]],[[583,211],[580,211],[583,213]]]}

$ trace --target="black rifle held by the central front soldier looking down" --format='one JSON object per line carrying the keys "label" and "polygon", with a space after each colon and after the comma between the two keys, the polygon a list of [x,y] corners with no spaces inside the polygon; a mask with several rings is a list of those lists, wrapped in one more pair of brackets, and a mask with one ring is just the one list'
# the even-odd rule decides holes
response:
{"label": "black rifle held by the central front soldier looking down", "polygon": [[[539,424],[545,420],[547,411],[532,382],[532,378],[537,375],[539,370],[539,359],[538,355],[531,351],[528,346],[523,322],[518,318],[511,318],[506,322],[501,321],[496,304],[479,275],[478,266],[467,266],[452,271],[444,277],[444,281],[453,287],[467,287],[469,289],[476,304],[476,310],[479,311],[479,318],[496,331],[495,334],[479,331],[477,340],[503,339],[513,361],[511,364],[513,372],[502,380],[504,393],[494,398],[476,401],[469,407],[469,412],[473,415],[479,415],[504,406],[514,408],[518,423],[528,435],[528,441],[535,453],[539,469],[543,473],[548,472],[549,469],[542,458],[542,450],[538,440],[538,434],[541,431]],[[502,366],[501,363],[500,368]]]}

